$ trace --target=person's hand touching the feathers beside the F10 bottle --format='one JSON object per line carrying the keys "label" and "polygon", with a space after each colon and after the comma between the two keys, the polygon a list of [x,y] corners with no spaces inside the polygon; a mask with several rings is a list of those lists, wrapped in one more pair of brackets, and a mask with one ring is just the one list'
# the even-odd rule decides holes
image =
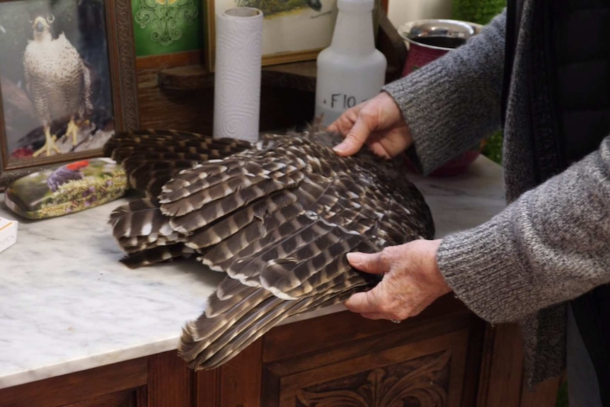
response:
{"label": "person's hand touching the feathers beside the F10 bottle", "polygon": [[339,156],[356,154],[366,142],[374,154],[389,159],[412,142],[400,108],[386,92],[345,111],[328,130],[345,136],[334,149]]}

